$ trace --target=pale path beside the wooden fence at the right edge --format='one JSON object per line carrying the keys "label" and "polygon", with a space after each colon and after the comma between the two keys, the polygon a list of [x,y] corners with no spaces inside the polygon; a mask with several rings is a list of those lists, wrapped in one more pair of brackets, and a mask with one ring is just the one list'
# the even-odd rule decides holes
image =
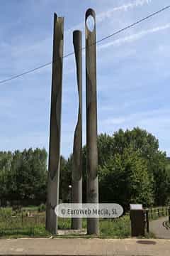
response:
{"label": "pale path beside the wooden fence at the right edge", "polygon": [[168,217],[152,220],[149,223],[149,230],[156,235],[156,238],[170,239],[170,223]]}

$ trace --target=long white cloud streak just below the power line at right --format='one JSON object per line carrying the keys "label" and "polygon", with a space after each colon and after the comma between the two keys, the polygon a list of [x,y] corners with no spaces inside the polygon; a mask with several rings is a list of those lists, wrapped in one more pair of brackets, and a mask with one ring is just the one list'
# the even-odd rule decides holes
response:
{"label": "long white cloud streak just below the power line at right", "polygon": [[168,28],[170,28],[170,23],[167,23],[164,26],[157,26],[157,27],[152,28],[152,29],[148,29],[148,30],[145,30],[145,31],[140,31],[140,33],[133,33],[130,36],[125,36],[124,38],[117,39],[117,40],[112,41],[110,43],[105,43],[105,44],[99,46],[98,48],[103,49],[103,48],[108,48],[110,46],[121,46],[123,43],[132,43],[134,41],[139,40],[140,38],[143,38],[143,37],[147,36],[148,34],[157,33],[159,31],[164,31]]}

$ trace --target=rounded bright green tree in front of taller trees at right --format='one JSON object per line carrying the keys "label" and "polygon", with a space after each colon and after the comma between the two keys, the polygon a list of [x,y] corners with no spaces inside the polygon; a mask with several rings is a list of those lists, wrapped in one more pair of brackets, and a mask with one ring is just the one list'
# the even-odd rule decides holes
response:
{"label": "rounded bright green tree in front of taller trees at right", "polygon": [[125,209],[130,203],[153,203],[152,188],[147,173],[147,161],[132,148],[115,154],[100,167],[99,191],[101,203],[120,203]]}

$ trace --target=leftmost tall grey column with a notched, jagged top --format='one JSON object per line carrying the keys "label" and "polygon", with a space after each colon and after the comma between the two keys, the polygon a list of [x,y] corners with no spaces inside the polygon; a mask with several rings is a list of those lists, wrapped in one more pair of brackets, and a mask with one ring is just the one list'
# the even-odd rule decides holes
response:
{"label": "leftmost tall grey column with a notched, jagged top", "polygon": [[57,233],[55,206],[59,203],[60,185],[60,137],[62,112],[62,63],[64,18],[54,15],[52,92],[50,114],[50,149],[47,184],[46,229]]}

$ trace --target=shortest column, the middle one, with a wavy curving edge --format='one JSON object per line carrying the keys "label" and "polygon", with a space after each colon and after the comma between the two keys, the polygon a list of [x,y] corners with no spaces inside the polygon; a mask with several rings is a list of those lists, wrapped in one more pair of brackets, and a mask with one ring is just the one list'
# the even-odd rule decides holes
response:
{"label": "shortest column, the middle one, with a wavy curving edge", "polygon": [[[74,53],[77,65],[77,86],[79,93],[79,114],[74,132],[72,203],[82,203],[82,35],[81,31],[73,32]],[[72,218],[72,229],[82,228],[81,218]]]}

